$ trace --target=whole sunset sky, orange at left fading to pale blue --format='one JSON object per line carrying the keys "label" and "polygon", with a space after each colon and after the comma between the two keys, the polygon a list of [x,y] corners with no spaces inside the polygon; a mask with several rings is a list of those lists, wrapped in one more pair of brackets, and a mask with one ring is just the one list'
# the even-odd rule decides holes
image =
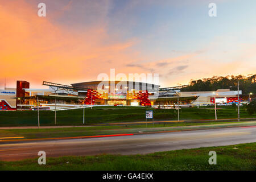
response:
{"label": "whole sunset sky, orange at left fading to pale blue", "polygon": [[[38,3],[46,3],[46,17]],[[209,17],[208,5],[217,5]],[[159,73],[162,87],[256,73],[254,0],[1,0],[0,89]]]}

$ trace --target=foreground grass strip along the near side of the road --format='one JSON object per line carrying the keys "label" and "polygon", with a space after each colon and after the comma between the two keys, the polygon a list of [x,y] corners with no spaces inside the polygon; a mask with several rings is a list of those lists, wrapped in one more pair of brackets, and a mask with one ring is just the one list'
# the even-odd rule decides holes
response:
{"label": "foreground grass strip along the near side of the road", "polygon": [[[210,165],[209,151],[217,152]],[[0,170],[256,170],[256,143],[156,152],[147,155],[97,155],[0,162]]]}

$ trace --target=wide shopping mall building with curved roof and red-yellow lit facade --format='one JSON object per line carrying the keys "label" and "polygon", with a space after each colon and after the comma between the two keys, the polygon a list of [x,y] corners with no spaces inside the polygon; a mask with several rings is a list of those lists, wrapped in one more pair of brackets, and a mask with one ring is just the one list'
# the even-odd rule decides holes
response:
{"label": "wide shopping mall building with curved roof and red-yellow lit facade", "polygon": [[[97,105],[173,106],[181,107],[216,103],[237,103],[237,91],[181,92],[184,86],[161,88],[135,81],[90,81],[71,85],[43,82],[48,89],[31,89],[27,81],[16,81],[16,88],[0,90],[0,110],[72,109]],[[248,100],[239,91],[240,102]],[[251,96],[251,97],[254,97]]]}

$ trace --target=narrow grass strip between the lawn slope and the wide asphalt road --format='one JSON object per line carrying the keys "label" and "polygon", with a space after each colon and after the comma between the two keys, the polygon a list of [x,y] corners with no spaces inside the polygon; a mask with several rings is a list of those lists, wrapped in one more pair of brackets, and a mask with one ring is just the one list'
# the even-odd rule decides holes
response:
{"label": "narrow grass strip between the lawn slope and the wide asphalt road", "polygon": [[[255,125],[255,122],[204,122],[204,123],[166,123],[165,125],[155,123],[146,125],[120,125],[120,126],[89,126],[89,127],[64,127],[53,129],[6,129],[0,130],[1,137],[24,137],[23,139],[35,139],[35,138],[58,138],[58,137],[82,137],[92,135],[110,135],[110,134],[122,134],[122,133],[138,133],[139,131],[152,132],[152,131],[170,131],[170,130],[184,130],[188,129],[185,126],[198,126],[198,128],[211,128],[214,125],[225,124],[225,126],[231,125]],[[205,126],[210,125],[210,126]],[[179,126],[177,128],[176,126]],[[2,139],[2,141],[4,141]]]}

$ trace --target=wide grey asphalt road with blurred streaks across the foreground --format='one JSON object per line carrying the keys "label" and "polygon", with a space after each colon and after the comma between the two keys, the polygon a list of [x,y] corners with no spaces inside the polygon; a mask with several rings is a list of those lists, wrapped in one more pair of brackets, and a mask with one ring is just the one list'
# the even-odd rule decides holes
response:
{"label": "wide grey asphalt road with blurred streaks across the foreground", "polygon": [[0,160],[38,158],[39,151],[47,157],[97,154],[147,154],[210,146],[256,142],[256,126],[226,129],[139,134],[122,137],[49,140],[0,144]]}

